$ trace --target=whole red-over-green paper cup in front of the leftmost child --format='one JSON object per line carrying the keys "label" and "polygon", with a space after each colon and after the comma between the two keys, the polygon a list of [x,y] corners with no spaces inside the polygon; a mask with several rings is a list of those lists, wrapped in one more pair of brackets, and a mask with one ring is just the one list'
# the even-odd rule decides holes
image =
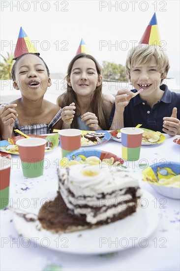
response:
{"label": "whole red-over-green paper cup in front of the leftmost child", "polygon": [[46,142],[45,139],[36,137],[16,141],[25,177],[34,178],[43,174]]}

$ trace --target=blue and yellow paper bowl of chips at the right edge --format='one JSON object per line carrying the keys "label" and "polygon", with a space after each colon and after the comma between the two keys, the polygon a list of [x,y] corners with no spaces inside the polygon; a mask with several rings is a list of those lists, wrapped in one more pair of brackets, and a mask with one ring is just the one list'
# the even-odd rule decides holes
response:
{"label": "blue and yellow paper bowl of chips at the right edge", "polygon": [[[176,182],[173,180],[175,176]],[[159,194],[180,199],[180,163],[155,163],[142,171],[142,180],[147,181]]]}

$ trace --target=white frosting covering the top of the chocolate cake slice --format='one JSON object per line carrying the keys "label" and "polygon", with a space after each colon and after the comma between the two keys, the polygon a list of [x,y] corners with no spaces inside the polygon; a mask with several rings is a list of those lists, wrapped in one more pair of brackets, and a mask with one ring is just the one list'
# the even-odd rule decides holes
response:
{"label": "white frosting covering the top of the chocolate cake slice", "polygon": [[[94,176],[86,176],[82,173],[83,170],[92,170],[97,172]],[[99,166],[89,165],[74,165],[69,168],[69,177],[67,178],[66,169],[60,169],[60,178],[64,174],[65,185],[76,196],[95,196],[97,194],[112,193],[120,189],[139,186],[138,180],[132,175],[129,169],[116,169],[104,165]],[[68,183],[67,183],[68,182]],[[101,195],[99,195],[101,198]]]}

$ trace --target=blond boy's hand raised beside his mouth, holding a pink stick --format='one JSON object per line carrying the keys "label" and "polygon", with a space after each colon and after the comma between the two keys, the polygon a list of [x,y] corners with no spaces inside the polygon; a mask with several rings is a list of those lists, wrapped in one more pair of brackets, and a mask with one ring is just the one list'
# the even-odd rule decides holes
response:
{"label": "blond boy's hand raised beside his mouth, holding a pink stick", "polygon": [[134,93],[130,90],[119,90],[115,98],[116,111],[119,113],[124,112],[125,106],[133,97]]}

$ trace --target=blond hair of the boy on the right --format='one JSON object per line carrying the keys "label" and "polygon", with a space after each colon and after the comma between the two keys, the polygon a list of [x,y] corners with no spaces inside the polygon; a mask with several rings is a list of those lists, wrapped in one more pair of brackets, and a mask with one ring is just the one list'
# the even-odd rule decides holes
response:
{"label": "blond hair of the boy on the right", "polygon": [[149,44],[139,44],[135,48],[129,50],[125,65],[127,78],[131,80],[131,68],[148,65],[152,60],[153,56],[155,57],[157,62],[157,69],[161,73],[162,83],[170,69],[169,60],[166,53],[161,49],[160,46]]}

